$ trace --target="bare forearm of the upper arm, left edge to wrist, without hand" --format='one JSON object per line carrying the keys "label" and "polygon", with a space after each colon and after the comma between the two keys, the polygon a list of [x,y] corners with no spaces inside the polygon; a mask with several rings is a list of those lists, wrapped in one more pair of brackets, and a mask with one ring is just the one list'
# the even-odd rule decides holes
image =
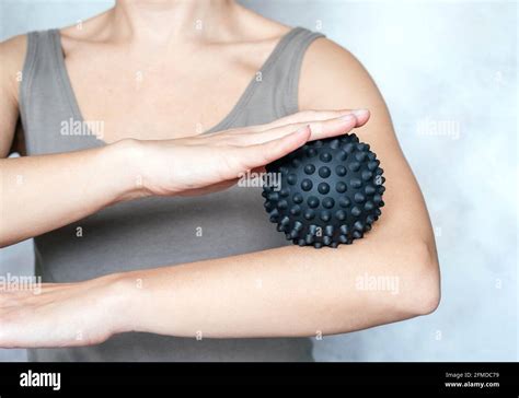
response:
{"label": "bare forearm of the upper arm, left edge to wrist, without hand", "polygon": [[67,225],[137,195],[131,145],[0,160],[0,246]]}

